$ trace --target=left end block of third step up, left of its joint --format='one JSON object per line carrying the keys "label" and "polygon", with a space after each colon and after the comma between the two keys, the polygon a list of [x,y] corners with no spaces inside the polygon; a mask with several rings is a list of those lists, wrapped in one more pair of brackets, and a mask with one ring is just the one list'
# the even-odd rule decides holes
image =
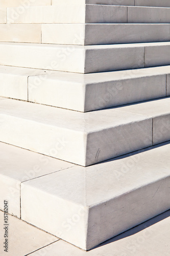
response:
{"label": "left end block of third step up, left of its joint", "polygon": [[36,81],[36,76],[54,73],[58,72],[0,66],[0,96],[28,100],[28,78],[34,76]]}

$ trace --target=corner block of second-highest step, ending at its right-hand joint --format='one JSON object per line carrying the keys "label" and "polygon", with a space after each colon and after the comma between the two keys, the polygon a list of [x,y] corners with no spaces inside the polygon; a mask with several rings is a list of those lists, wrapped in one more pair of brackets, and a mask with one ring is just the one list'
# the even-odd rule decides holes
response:
{"label": "corner block of second-highest step, ending at its right-hand joint", "polygon": [[[39,15],[37,15],[37,12]],[[7,10],[7,23],[127,23],[127,7],[77,5],[32,7],[23,14]]]}

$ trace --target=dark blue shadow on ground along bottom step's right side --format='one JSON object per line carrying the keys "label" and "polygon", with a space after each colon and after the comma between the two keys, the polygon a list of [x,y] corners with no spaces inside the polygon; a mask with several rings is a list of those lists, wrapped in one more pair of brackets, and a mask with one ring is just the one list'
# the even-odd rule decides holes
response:
{"label": "dark blue shadow on ground along bottom step's right side", "polygon": [[[110,244],[110,243],[114,243],[115,241],[118,241],[118,240],[121,240],[121,239],[124,239],[124,238],[127,238],[127,237],[130,237],[130,236],[133,236],[134,234],[144,230],[144,229],[147,229],[151,226],[153,226],[154,224],[166,219],[170,217],[170,210],[167,210],[165,212],[163,212],[163,214],[160,214],[148,221],[145,221],[143,222],[142,224],[139,224],[138,226],[135,226],[131,229],[129,229],[128,231],[125,231],[124,233],[121,233],[119,234],[118,236],[112,238],[112,239],[109,239],[107,240],[106,242],[100,244],[99,246],[95,247],[95,248],[98,248],[98,247],[101,247],[101,246],[104,246],[106,244]],[[154,230],[150,230],[148,231],[148,233],[153,233]]]}

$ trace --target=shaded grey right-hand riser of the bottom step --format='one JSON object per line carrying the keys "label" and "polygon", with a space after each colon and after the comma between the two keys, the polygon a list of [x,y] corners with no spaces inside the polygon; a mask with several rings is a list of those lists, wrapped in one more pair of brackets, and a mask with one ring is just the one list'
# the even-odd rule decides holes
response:
{"label": "shaded grey right-hand riser of the bottom step", "polygon": [[[170,208],[170,203],[167,198],[167,194],[170,192],[169,184],[170,177],[167,177],[159,182],[123,195],[120,198],[116,198],[100,206],[92,207],[89,210],[89,231],[87,233],[89,240],[87,243],[89,247],[87,249],[91,249],[96,246],[96,244],[100,244],[115,237],[168,210]],[[158,187],[160,189],[159,193],[156,194],[156,196],[152,195],[153,191],[156,191]],[[164,199],[165,197],[166,199]],[[147,202],[145,202],[145,198],[147,198]],[[135,202],[137,202],[136,207]],[[105,220],[102,224],[101,221],[96,221],[95,216],[98,212],[101,213],[101,219]],[[110,216],[112,216],[111,220]],[[94,220],[95,225],[92,224]],[[102,230],[104,230],[103,234],[94,240],[94,236],[96,236],[99,230],[100,234]]]}

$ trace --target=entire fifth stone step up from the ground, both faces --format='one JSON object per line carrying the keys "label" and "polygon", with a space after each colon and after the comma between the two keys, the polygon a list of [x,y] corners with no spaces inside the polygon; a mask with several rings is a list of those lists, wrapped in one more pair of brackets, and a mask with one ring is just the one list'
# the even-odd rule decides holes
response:
{"label": "entire fifth stone step up from the ground, both faces", "polygon": [[[159,31],[159,33],[158,33]],[[106,45],[170,41],[169,24],[0,24],[0,41]]]}

